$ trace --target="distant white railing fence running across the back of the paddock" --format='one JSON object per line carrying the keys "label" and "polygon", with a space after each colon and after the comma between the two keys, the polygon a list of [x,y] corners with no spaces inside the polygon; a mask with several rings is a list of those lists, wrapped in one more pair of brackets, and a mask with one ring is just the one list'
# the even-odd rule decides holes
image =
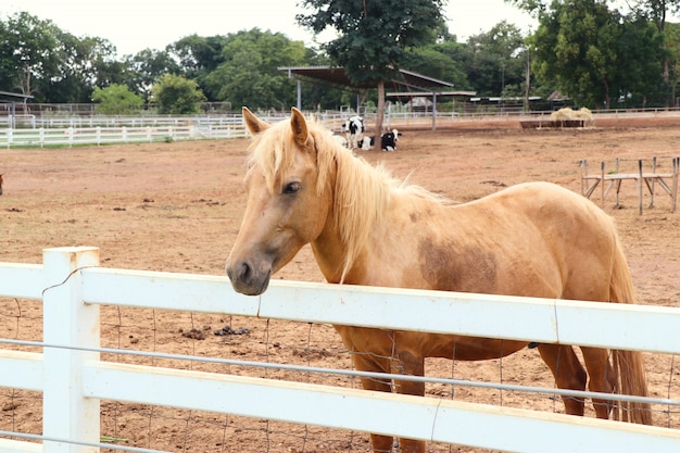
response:
{"label": "distant white railing fence running across the back of the paddock", "polygon": [[[543,121],[550,118],[552,112],[491,112],[478,113],[457,112],[386,112],[383,128],[445,128],[458,122],[496,121],[520,122]],[[621,117],[679,117],[680,111],[667,110],[609,110],[600,111],[595,118]],[[324,111],[308,112],[329,129],[340,133],[347,112]],[[287,112],[272,114],[264,112],[261,117],[275,123],[288,117]],[[364,123],[367,134],[375,135],[375,112],[365,113]],[[17,147],[73,147],[105,143],[139,143],[174,140],[201,140],[248,137],[241,115],[205,115],[205,116],[34,116],[16,115],[15,118],[0,115],[0,148]],[[11,127],[12,124],[18,127]]]}

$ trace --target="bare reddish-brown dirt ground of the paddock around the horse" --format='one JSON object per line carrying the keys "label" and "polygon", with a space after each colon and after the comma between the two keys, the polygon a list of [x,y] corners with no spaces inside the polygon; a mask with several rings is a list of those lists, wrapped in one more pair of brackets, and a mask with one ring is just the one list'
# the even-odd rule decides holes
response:
{"label": "bare reddish-brown dirt ground of the paddock around the horse", "polygon": [[[590,172],[605,161],[621,172],[637,160],[669,173],[680,154],[680,118],[596,121],[589,129],[522,130],[518,123],[455,123],[437,131],[403,130],[394,153],[361,153],[395,176],[457,201],[470,201],[522,181],[547,180],[580,192],[579,161]],[[244,207],[242,177],[248,140],[121,144],[75,149],[0,150],[0,262],[41,263],[42,249],[96,246],[105,267],[224,275]],[[593,201],[601,202],[600,191]],[[638,213],[633,181],[621,187],[621,206],[609,194],[641,303],[680,305],[680,213],[657,187],[654,207]],[[276,278],[322,281],[308,248]],[[1,285],[1,282],[0,282]],[[40,304],[0,298],[0,338],[41,340]],[[219,332],[222,335],[215,335]],[[330,326],[196,313],[102,309],[102,345],[248,361],[351,368]],[[2,345],[2,348],[7,348]],[[30,349],[28,349],[30,350]],[[147,358],[105,360],[149,363]],[[217,373],[251,374],[358,387],[351,378],[154,360]],[[652,394],[680,400],[680,365],[645,356]],[[4,373],[4,372],[3,372]],[[526,386],[554,386],[534,350],[502,361],[430,361],[429,376]],[[547,395],[428,385],[430,398],[563,412]],[[218,395],[216,395],[218,398]],[[0,389],[0,430],[41,432],[39,394]],[[655,424],[680,428],[679,407],[654,407]],[[593,416],[589,405],[588,416]],[[102,436],[122,445],[191,452],[367,451],[368,436],[272,420],[102,402]],[[111,440],[111,439],[109,439]],[[428,451],[478,451],[429,444]]]}

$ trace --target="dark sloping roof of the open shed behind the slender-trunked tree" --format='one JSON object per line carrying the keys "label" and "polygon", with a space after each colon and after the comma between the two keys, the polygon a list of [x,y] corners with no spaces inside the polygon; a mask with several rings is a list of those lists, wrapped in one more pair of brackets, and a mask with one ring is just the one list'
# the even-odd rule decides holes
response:
{"label": "dark sloping roof of the open shed behind the slender-trunked tree", "polygon": [[[279,67],[280,71],[287,71],[288,75],[293,75],[300,79],[312,81],[324,81],[331,85],[338,85],[350,88],[376,88],[374,84],[353,84],[344,72],[343,67],[331,66],[285,66]],[[423,74],[412,71],[399,70],[396,76],[386,84],[394,89],[408,89],[419,91],[440,91],[442,89],[451,89],[453,84],[438,80]]]}

